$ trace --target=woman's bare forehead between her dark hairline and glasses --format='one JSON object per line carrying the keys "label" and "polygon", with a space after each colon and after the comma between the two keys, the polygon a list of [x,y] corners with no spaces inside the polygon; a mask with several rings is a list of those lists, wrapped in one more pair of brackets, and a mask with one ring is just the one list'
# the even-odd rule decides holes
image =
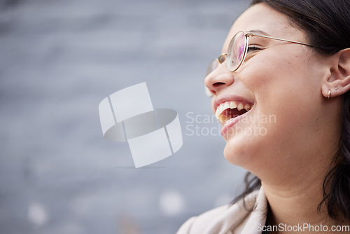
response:
{"label": "woman's bare forehead between her dark hairline and glasses", "polygon": [[305,38],[304,32],[290,24],[287,15],[274,10],[266,4],[255,4],[242,13],[232,25],[228,37],[223,45],[223,51],[226,51],[232,36],[240,30],[261,30],[269,36],[279,37],[281,39],[300,39]]}

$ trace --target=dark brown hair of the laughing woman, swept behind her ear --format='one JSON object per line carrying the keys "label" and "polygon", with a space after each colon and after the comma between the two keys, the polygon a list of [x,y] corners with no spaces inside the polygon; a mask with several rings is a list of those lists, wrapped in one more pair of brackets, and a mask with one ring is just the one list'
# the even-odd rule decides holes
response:
{"label": "dark brown hair of the laughing woman, swept behind her ear", "polygon": [[[332,55],[350,48],[350,1],[342,0],[253,0],[251,6],[265,3],[288,15],[290,22],[300,27],[308,37],[314,50]],[[349,91],[350,92],[350,91]],[[323,200],[328,215],[337,219],[339,214],[350,219],[350,93],[342,95],[342,135],[339,149],[332,159],[335,163],[323,181]],[[258,177],[248,172],[245,178],[246,190],[232,203],[245,198],[248,193],[261,186]]]}

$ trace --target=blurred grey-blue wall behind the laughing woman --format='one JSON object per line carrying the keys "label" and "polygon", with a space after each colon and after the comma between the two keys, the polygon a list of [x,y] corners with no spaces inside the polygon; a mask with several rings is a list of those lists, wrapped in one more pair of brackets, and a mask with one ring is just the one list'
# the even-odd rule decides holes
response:
{"label": "blurred grey-blue wall behind the laughing woman", "polygon": [[[175,233],[237,195],[203,76],[248,1],[0,1],[0,233]],[[98,105],[145,82],[183,147],[134,168]],[[137,108],[137,104],[135,104]],[[199,134],[192,135],[195,125]]]}

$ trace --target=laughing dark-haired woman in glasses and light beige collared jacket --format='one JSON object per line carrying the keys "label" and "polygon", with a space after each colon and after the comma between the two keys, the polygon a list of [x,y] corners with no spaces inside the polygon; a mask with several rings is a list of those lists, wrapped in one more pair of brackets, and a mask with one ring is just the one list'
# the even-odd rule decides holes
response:
{"label": "laughing dark-haired woman in glasses and light beige collared jacket", "polygon": [[209,69],[225,158],[251,174],[178,233],[350,233],[350,1],[253,1]]}

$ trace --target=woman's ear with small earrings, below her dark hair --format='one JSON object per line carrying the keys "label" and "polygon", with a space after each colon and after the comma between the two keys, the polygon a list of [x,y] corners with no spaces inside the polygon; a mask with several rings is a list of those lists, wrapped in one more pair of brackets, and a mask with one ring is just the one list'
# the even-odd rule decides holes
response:
{"label": "woman's ear with small earrings, below her dark hair", "polygon": [[330,69],[330,76],[322,84],[322,95],[337,97],[350,90],[350,48],[339,50],[334,55],[335,61]]}

